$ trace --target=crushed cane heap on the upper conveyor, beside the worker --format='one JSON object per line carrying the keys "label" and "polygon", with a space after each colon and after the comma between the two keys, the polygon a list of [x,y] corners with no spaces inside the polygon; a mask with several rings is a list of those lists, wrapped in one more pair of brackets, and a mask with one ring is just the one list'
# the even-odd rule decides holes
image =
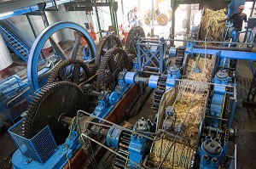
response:
{"label": "crushed cane heap on the upper conveyor, beside the worker", "polygon": [[215,41],[222,40],[222,34],[225,29],[225,22],[218,24],[218,20],[224,20],[226,16],[226,8],[214,11],[206,8],[201,20],[201,40],[204,40],[207,35],[207,29],[211,25],[212,30],[209,31],[207,37],[212,37]]}

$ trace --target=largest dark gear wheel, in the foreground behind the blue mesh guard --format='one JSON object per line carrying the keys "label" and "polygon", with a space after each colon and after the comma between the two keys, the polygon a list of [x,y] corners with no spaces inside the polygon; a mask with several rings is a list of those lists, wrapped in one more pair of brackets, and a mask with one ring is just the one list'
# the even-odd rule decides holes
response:
{"label": "largest dark gear wheel, in the foreground behind the blue mesh guard", "polygon": [[49,126],[56,144],[63,144],[69,130],[59,122],[60,115],[73,118],[78,110],[85,110],[84,107],[84,93],[75,83],[49,84],[41,89],[27,110],[22,127],[24,137],[32,138]]}

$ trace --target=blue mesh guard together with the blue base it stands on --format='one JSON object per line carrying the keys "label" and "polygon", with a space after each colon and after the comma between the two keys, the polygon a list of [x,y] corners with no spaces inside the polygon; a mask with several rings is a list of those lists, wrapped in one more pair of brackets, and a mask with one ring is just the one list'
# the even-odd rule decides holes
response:
{"label": "blue mesh guard together with the blue base it stands on", "polygon": [[9,128],[9,133],[19,148],[12,157],[15,169],[63,168],[81,147],[79,134],[74,130],[70,132],[64,144],[57,146],[49,126],[44,127],[31,139],[23,138],[22,121],[24,119]]}

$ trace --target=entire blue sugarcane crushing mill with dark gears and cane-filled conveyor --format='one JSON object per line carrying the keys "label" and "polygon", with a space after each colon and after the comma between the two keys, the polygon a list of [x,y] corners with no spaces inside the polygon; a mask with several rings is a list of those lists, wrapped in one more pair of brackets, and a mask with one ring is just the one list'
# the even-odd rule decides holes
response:
{"label": "entire blue sugarcane crushing mill with dark gears and cane-filled conveyor", "polygon": [[[25,118],[9,129],[19,148],[14,168],[234,168],[236,67],[229,59],[252,54],[188,42],[172,50],[173,64],[167,41],[146,38],[137,26],[125,49],[115,36],[97,48],[90,43],[93,59],[62,61],[44,87],[34,84],[31,70],[36,96]],[[33,46],[39,44],[44,42]],[[148,114],[155,118],[120,126],[145,88],[154,88]],[[111,162],[100,165],[109,152]]]}

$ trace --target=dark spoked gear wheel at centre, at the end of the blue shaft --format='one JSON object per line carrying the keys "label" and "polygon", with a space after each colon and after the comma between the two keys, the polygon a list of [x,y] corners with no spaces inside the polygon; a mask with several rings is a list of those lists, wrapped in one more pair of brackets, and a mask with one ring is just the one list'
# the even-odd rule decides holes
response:
{"label": "dark spoked gear wheel at centre, at the end of the blue shaft", "polygon": [[102,58],[98,70],[97,84],[99,90],[109,89],[113,91],[118,83],[118,75],[122,70],[131,70],[131,61],[123,48],[114,48],[108,51]]}

